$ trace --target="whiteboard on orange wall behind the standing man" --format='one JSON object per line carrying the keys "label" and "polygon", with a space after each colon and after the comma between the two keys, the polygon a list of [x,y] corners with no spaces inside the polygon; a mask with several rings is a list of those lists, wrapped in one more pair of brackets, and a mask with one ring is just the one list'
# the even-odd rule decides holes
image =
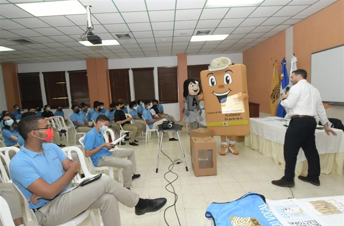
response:
{"label": "whiteboard on orange wall behind the standing man", "polygon": [[344,103],[344,45],[312,53],[311,84],[322,101]]}

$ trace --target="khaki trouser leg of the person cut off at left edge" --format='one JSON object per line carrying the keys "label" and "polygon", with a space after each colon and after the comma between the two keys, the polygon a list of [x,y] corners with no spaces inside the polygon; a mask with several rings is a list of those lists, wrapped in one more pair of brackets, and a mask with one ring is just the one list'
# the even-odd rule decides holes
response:
{"label": "khaki trouser leg of the person cut off at left edge", "polygon": [[23,217],[20,195],[13,183],[0,183],[0,196],[6,200],[13,220]]}

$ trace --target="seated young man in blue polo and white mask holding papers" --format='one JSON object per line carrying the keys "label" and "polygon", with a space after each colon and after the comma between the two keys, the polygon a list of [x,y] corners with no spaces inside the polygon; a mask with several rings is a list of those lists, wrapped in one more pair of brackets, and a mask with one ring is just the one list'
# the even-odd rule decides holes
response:
{"label": "seated young man in blue polo and white mask holding papers", "polygon": [[[105,115],[99,115],[95,127],[86,134],[84,139],[85,156],[91,157],[95,166],[111,166],[123,168],[124,187],[130,189],[132,181],[140,178],[136,171],[135,152],[133,149],[116,149],[112,152],[113,144],[105,143],[100,132],[105,132],[110,122]],[[128,159],[124,159],[128,158]]]}

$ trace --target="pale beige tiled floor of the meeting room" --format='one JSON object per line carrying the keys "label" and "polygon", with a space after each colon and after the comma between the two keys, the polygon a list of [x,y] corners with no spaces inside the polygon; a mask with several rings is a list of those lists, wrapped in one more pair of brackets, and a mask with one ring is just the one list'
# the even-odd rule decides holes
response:
{"label": "pale beige tiled floor of the meeting room", "polygon": [[[272,200],[292,197],[290,188],[271,184],[271,180],[277,180],[283,176],[282,167],[275,164],[272,158],[263,157],[257,151],[245,147],[243,143],[237,143],[240,150],[240,154],[237,156],[231,153],[226,156],[218,154],[217,176],[195,177],[191,167],[189,135],[185,128],[179,133],[179,136],[189,168],[187,172],[183,163],[175,164],[173,168],[173,172],[178,176],[178,179],[173,182],[173,186],[178,195],[175,209],[181,226],[205,226],[204,214],[210,203],[230,202],[250,191],[260,193]],[[74,144],[73,138],[70,138],[70,144]],[[215,137],[215,139],[218,141],[219,149],[220,137]],[[122,226],[166,226],[164,211],[166,207],[174,203],[174,195],[165,189],[168,182],[164,179],[171,161],[161,155],[159,172],[155,173],[158,153],[157,138],[152,135],[147,144],[145,144],[145,137],[141,136],[138,140],[140,146],[135,147],[134,150],[137,173],[141,174],[141,178],[133,181],[132,191],[140,194],[142,198],[166,197],[168,203],[159,212],[142,216],[136,216],[133,208],[120,204]],[[126,147],[128,146],[122,146],[122,148]],[[167,136],[164,137],[162,150],[172,159],[182,159],[179,143],[168,141]],[[169,173],[166,174],[166,178],[172,181],[176,175]],[[317,187],[296,178],[296,186],[292,188],[295,198],[344,195],[343,176],[321,174],[320,182],[321,185]],[[168,188],[172,189],[171,186]],[[97,217],[98,212],[95,211],[95,213]],[[165,216],[168,225],[179,225],[174,207],[166,210]],[[92,226],[92,223],[90,219],[87,219],[81,225]]]}

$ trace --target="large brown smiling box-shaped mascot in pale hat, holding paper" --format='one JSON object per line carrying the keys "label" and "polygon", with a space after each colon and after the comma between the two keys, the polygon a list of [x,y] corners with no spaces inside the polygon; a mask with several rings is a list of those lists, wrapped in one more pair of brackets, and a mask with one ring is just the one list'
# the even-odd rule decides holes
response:
{"label": "large brown smiling box-shaped mascot in pale hat, holding paper", "polygon": [[[220,155],[239,154],[235,137],[249,133],[246,67],[232,65],[227,57],[212,60],[210,68],[200,72],[207,127],[221,136]],[[229,138],[229,146],[226,141]]]}

